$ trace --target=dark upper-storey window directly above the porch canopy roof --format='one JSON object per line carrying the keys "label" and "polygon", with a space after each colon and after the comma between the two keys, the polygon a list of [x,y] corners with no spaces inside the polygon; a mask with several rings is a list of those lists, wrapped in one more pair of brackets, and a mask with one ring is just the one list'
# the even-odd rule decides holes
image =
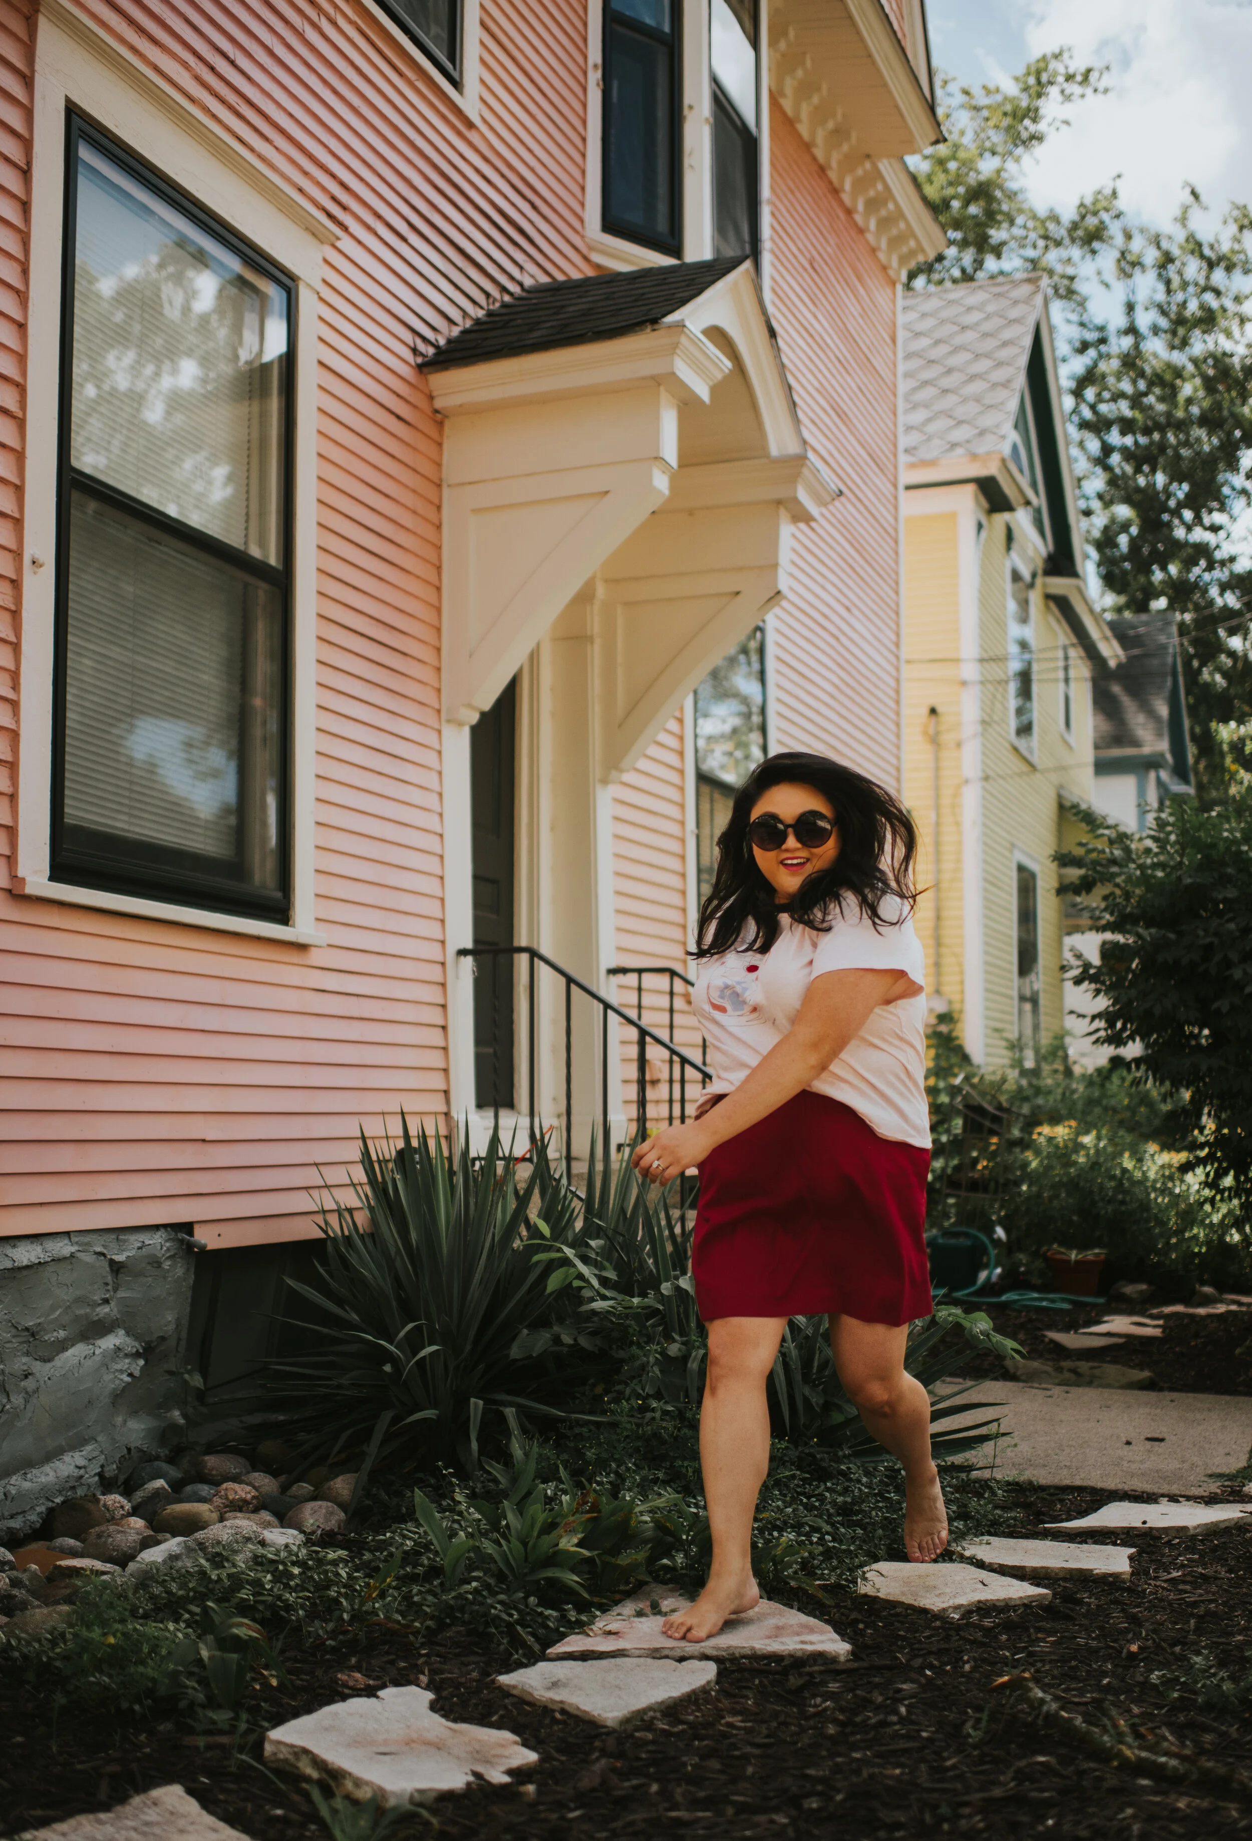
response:
{"label": "dark upper-storey window directly above the porch canopy roof", "polygon": [[604,0],[606,230],[681,254],[681,0]]}

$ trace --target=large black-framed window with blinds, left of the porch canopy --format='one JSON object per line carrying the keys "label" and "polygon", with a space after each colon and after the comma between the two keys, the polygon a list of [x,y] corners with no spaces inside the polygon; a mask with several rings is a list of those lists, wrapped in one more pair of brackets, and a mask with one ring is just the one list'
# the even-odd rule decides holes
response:
{"label": "large black-framed window with blinds, left of the porch canopy", "polygon": [[289,908],[291,282],[70,118],[52,873]]}

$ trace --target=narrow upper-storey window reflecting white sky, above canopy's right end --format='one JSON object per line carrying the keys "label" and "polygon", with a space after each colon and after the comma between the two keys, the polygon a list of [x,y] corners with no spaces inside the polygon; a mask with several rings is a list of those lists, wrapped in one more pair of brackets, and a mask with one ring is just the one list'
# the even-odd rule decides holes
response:
{"label": "narrow upper-storey window reflecting white sky, above canopy's right end", "polygon": [[757,0],[709,0],[713,230],[718,256],[757,256]]}

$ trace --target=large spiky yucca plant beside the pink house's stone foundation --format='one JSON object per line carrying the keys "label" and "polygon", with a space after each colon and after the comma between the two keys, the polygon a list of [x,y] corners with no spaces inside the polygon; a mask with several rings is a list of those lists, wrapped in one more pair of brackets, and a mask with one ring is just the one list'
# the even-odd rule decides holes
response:
{"label": "large spiky yucca plant beside the pink house's stone foundation", "polygon": [[525,1340],[574,1303],[528,1243],[576,1254],[582,1210],[543,1141],[523,1164],[497,1132],[482,1158],[464,1140],[449,1152],[438,1132],[414,1138],[403,1116],[400,1132],[381,1145],[363,1134],[350,1198],[322,1206],[322,1272],[289,1279],[317,1311],[298,1326],[315,1342],[269,1364],[269,1394],[331,1458],[368,1449],[475,1469],[484,1410],[562,1410],[595,1349],[573,1329],[558,1375],[551,1342]]}

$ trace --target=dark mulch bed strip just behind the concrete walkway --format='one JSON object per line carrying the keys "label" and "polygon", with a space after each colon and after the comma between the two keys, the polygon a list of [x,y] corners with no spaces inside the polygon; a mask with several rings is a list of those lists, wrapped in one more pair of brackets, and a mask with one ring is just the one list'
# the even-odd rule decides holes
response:
{"label": "dark mulch bed strip just behind the concrete walkway", "polygon": [[[1105,1316],[1134,1314],[1121,1305],[1077,1305],[1072,1311],[1011,1311],[1003,1305],[970,1300],[985,1309],[1003,1337],[1013,1337],[1031,1360],[1110,1362],[1118,1368],[1147,1368],[1154,1386],[1167,1394],[1252,1394],[1252,1309],[1224,1311],[1221,1316],[1162,1314],[1164,1335],[1127,1337],[1112,1349],[1062,1349],[1048,1340],[1049,1329],[1077,1331]],[[980,1355],[965,1372],[1002,1375],[994,1355]]]}

